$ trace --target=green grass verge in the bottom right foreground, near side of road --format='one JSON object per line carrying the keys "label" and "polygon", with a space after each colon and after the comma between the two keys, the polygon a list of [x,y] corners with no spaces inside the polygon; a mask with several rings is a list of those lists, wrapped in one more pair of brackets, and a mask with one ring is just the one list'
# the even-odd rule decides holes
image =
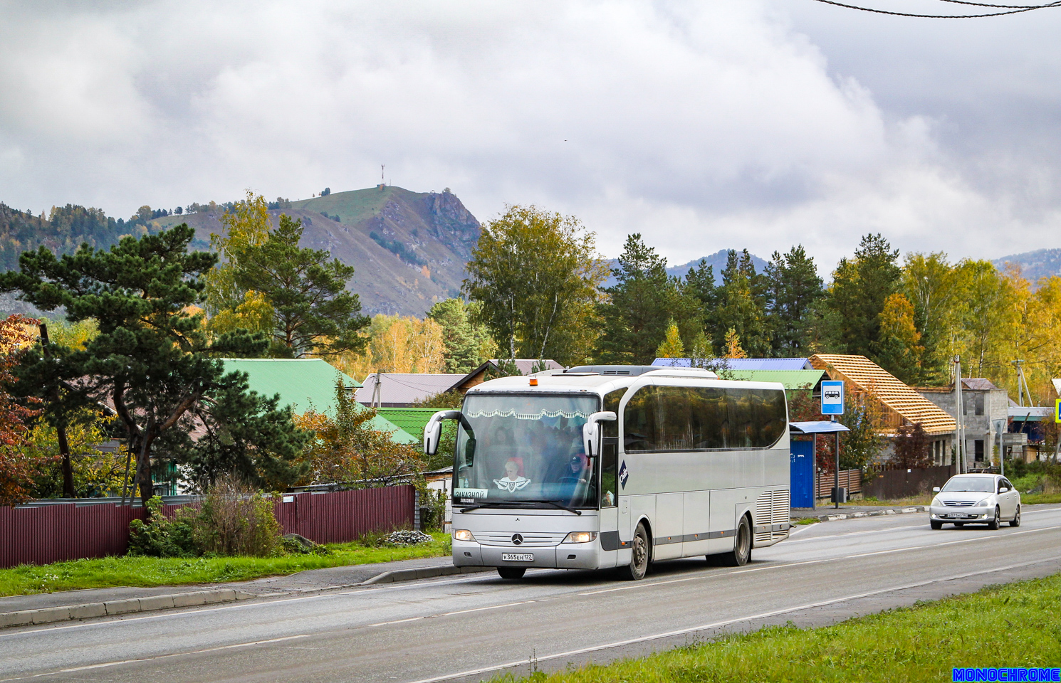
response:
{"label": "green grass verge in the bottom right foreground, near side of road", "polygon": [[[817,629],[771,627],[535,683],[951,680],[952,667],[1058,666],[1061,575],[989,586],[972,595]],[[511,676],[494,679],[511,681]]]}

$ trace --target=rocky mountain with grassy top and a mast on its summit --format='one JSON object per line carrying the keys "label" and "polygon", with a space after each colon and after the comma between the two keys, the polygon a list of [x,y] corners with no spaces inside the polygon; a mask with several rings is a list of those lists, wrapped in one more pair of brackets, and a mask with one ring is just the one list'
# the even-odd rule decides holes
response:
{"label": "rocky mountain with grassy top and a mast on its summit", "polygon": [[[305,247],[328,249],[354,267],[349,288],[367,314],[422,317],[435,301],[457,296],[464,267],[482,228],[456,195],[446,190],[412,192],[394,186],[334,192],[312,199],[272,203],[274,222],[285,213],[302,221]],[[222,233],[222,211],[152,221],[159,227],[187,223],[195,246]]]}

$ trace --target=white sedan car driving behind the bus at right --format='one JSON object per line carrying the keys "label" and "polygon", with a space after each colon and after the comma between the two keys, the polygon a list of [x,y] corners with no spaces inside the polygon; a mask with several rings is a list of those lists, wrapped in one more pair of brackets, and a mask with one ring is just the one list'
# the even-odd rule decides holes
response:
{"label": "white sedan car driving behind the bus at right", "polygon": [[956,474],[943,488],[933,489],[936,497],[928,508],[932,528],[987,524],[997,529],[1003,522],[1021,526],[1021,493],[1009,479],[997,474]]}

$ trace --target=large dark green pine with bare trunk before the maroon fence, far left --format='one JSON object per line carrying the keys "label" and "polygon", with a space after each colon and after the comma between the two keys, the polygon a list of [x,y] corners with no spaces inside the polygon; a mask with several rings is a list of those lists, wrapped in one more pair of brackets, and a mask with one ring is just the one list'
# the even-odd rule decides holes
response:
{"label": "large dark green pine with bare trunk before the maroon fence, far left", "polygon": [[[195,231],[186,224],[141,239],[125,238],[109,251],[85,246],[73,256],[56,258],[41,247],[19,259],[18,272],[0,276],[0,291],[19,292],[19,298],[42,311],[63,308],[73,321],[94,319],[99,334],[80,349],[56,349],[62,376],[98,402],[115,406],[136,457],[136,483],[141,500],[153,495],[152,457],[155,444],[187,430],[190,414],[213,413],[223,396],[247,392],[246,374],[225,372],[221,356],[261,354],[267,340],[245,331],[210,339],[203,326],[203,275],[216,262],[213,253],[188,252]],[[35,353],[25,355],[28,375],[39,375],[46,364]],[[261,403],[244,403],[244,410],[227,411],[231,426],[249,424]],[[220,414],[215,414],[219,418]],[[282,416],[271,428],[283,439],[297,440],[297,431]],[[253,448],[278,454],[274,435],[248,437]]]}

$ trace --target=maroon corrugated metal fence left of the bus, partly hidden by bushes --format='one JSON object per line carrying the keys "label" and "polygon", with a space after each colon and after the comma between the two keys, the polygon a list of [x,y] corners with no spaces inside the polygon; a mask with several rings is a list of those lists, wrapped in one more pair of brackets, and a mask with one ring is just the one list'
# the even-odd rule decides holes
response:
{"label": "maroon corrugated metal fence left of the bus, partly hidden by bushes", "polygon": [[[162,512],[169,516],[188,504],[163,505]],[[412,527],[414,507],[412,486],[390,486],[285,494],[275,501],[274,514],[283,533],[341,543],[366,531]],[[145,513],[131,505],[72,502],[0,507],[0,567],[123,555],[129,522],[144,519]]]}

